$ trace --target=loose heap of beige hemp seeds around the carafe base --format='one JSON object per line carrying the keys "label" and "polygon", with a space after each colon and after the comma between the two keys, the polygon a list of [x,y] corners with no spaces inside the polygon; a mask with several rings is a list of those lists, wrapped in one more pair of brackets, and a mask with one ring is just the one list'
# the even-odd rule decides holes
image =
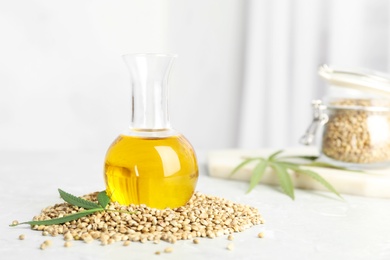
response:
{"label": "loose heap of beige hemp seeds around the carafe base", "polygon": [[[87,194],[82,198],[96,202],[97,194],[98,192]],[[199,192],[185,206],[175,209],[159,210],[145,205],[123,206],[117,202],[109,203],[107,208],[121,212],[97,212],[64,224],[35,225],[32,229],[41,231],[44,236],[63,235],[65,247],[71,246],[73,240],[86,243],[97,240],[101,245],[121,241],[127,246],[131,242],[153,241],[157,244],[162,240],[173,244],[178,240],[190,239],[198,244],[197,238],[222,235],[228,235],[228,240],[233,240],[233,233],[264,223],[254,207]],[[43,209],[33,220],[59,218],[83,210],[66,202],[55,204]],[[263,235],[261,232],[258,237]],[[47,244],[43,243],[41,249]],[[232,250],[232,245],[227,249]],[[171,251],[171,248],[167,248],[167,251]]]}

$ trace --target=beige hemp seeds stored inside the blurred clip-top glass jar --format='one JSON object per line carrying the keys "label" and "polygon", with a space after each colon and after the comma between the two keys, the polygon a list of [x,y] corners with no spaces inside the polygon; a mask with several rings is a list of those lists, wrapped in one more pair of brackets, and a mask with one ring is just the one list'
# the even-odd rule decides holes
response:
{"label": "beige hemp seeds stored inside the blurred clip-top glass jar", "polygon": [[358,164],[390,160],[388,101],[341,99],[331,102],[328,110],[329,120],[322,138],[324,155]]}

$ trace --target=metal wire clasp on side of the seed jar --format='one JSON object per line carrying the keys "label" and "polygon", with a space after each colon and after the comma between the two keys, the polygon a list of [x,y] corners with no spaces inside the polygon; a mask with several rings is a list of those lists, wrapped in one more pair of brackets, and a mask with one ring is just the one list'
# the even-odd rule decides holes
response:
{"label": "metal wire clasp on side of the seed jar", "polygon": [[325,113],[326,106],[322,104],[321,100],[313,100],[311,104],[313,107],[313,121],[299,140],[304,145],[311,145],[314,142],[318,127],[326,124],[329,119]]}

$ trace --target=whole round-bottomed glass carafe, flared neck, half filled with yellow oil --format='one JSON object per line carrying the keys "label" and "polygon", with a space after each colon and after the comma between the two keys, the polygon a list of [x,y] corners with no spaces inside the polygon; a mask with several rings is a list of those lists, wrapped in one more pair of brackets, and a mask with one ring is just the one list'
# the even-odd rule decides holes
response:
{"label": "whole round-bottomed glass carafe, flared neck, half filled with yellow oil", "polygon": [[185,205],[198,180],[195,152],[171,128],[168,75],[176,55],[128,54],[131,124],[109,147],[104,167],[107,193],[123,205]]}

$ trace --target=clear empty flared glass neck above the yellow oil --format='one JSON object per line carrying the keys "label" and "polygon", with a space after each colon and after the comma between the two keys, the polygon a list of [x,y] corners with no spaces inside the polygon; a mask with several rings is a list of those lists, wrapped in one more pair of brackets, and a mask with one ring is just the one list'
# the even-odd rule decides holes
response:
{"label": "clear empty flared glass neck above the yellow oil", "polygon": [[164,132],[170,129],[168,76],[175,57],[170,54],[123,56],[131,78],[132,132]]}

